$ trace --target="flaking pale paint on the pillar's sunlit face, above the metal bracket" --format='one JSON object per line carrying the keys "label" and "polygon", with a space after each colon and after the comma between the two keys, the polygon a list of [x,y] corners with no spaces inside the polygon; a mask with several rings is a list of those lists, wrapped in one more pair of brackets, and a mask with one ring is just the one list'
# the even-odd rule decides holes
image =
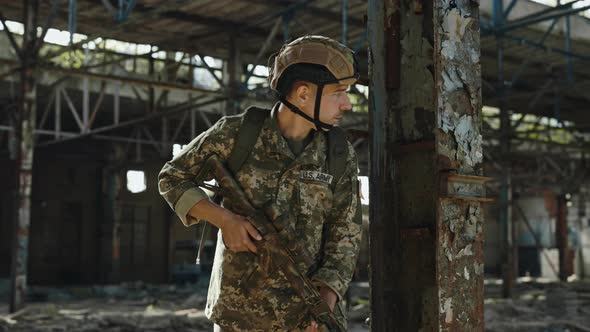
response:
{"label": "flaking pale paint on the pillar's sunlit face, above the metal bracket", "polygon": [[[451,3],[455,3],[453,8]],[[437,148],[461,174],[481,175],[481,67],[474,1],[436,2]]]}

